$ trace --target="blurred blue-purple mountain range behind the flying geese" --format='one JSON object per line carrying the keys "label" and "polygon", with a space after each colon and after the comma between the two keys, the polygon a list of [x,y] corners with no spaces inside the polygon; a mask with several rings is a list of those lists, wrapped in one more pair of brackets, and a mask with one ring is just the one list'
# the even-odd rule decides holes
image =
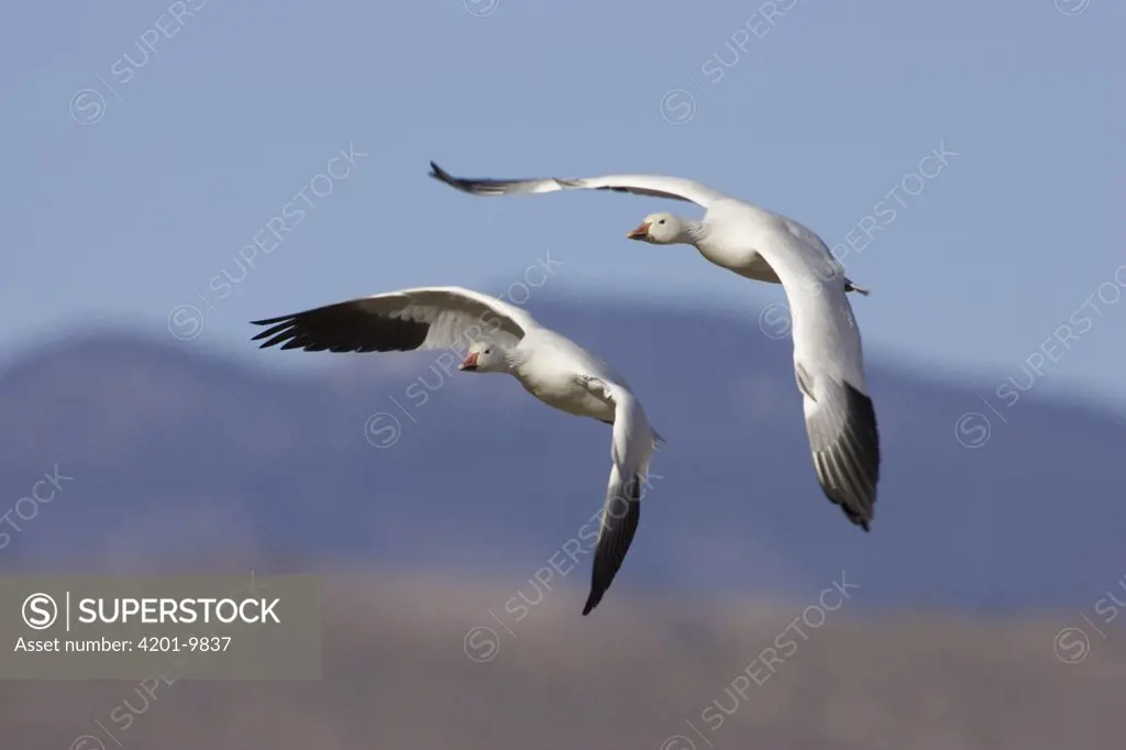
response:
{"label": "blurred blue-purple mountain range behind the flying geese", "polygon": [[[1089,607],[1126,573],[1118,414],[1033,393],[1003,423],[978,399],[992,386],[921,380],[869,351],[884,464],[864,534],[814,479],[788,339],[674,307],[531,309],[613,355],[669,439],[607,601],[627,588],[801,597],[847,570],[867,604]],[[0,565],[175,568],[240,550],[518,587],[565,559],[599,508],[609,428],[511,378],[457,373],[440,352],[259,356],[339,367],[280,378],[170,337],[95,332],[0,373],[0,511],[20,529],[0,527]],[[993,422],[974,449],[955,434],[967,411]],[[397,441],[374,447],[392,417]],[[73,479],[17,508],[55,466]],[[569,577],[586,581],[589,559]]]}

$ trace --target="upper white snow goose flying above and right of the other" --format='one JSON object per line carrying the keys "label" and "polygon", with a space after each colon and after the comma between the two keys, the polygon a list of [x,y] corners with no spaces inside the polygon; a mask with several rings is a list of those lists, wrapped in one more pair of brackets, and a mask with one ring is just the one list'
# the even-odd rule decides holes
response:
{"label": "upper white snow goose flying above and right of the other", "polygon": [[794,368],[803,395],[813,467],[825,495],[865,532],[875,514],[879,434],[864,376],[860,332],[849,280],[828,245],[802,224],[699,182],[658,175],[590,178],[473,179],[430,162],[430,177],[472,195],[615,190],[672,198],[705,208],[694,221],[646,216],[626,236],[651,244],[691,244],[740,276],[781,284],[789,301]]}

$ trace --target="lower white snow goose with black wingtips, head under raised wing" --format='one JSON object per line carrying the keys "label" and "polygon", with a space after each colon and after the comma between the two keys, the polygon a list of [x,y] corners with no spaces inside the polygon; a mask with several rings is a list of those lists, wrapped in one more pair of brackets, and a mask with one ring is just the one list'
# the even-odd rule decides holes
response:
{"label": "lower white snow goose with black wingtips, head under raised wing", "polygon": [[595,547],[589,614],[622,568],[641,518],[642,484],[664,440],[625,380],[525,310],[456,286],[401,289],[253,321],[260,348],[305,351],[465,350],[458,369],[508,373],[549,407],[614,426],[610,479]]}

